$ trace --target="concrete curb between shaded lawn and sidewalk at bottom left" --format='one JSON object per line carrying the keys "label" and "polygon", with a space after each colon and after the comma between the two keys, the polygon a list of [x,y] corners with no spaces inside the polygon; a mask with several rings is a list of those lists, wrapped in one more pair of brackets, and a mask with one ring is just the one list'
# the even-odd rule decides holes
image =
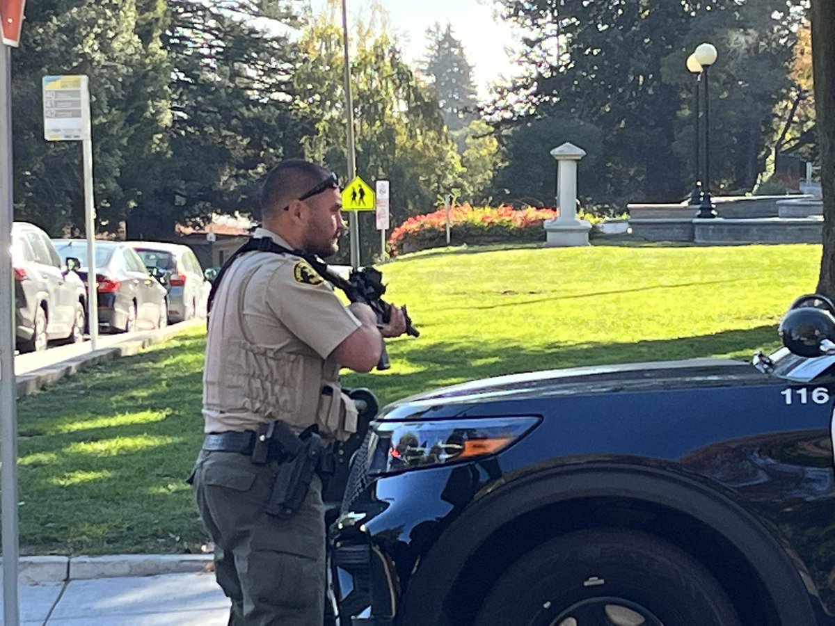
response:
{"label": "concrete curb between shaded lawn and sidewalk at bottom left", "polygon": [[[0,563],[3,563],[2,558]],[[47,556],[18,559],[18,582],[27,585],[211,571],[214,571],[211,554],[115,554],[104,557]],[[3,571],[0,570],[2,583]]]}

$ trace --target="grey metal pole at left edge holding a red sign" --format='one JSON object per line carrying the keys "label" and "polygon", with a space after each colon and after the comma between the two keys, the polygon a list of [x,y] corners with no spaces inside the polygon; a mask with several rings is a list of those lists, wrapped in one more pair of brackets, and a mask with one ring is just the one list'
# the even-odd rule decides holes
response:
{"label": "grey metal pole at left edge holding a red sign", "polygon": [[18,416],[12,294],[12,48],[0,45],[0,483],[3,488],[3,623],[18,626]]}

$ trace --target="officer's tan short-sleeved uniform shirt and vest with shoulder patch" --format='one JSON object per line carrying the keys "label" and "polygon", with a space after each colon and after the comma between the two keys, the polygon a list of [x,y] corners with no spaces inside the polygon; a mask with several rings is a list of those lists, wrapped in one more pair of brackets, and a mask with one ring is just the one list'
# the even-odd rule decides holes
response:
{"label": "officer's tan short-sleeved uniform shirt and vest with shoulder patch", "polygon": [[[271,237],[266,229],[255,237]],[[296,432],[316,422],[329,356],[361,326],[333,288],[295,255],[248,252],[215,295],[203,375],[205,432],[254,429],[267,413]],[[338,396],[337,392],[337,396]]]}

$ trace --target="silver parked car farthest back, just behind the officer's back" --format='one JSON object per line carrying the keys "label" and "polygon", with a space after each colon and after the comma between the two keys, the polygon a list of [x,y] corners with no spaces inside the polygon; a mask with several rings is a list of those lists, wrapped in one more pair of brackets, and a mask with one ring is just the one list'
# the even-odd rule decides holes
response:
{"label": "silver parked car farthest back, just behind the officer's back", "polygon": [[168,290],[170,322],[205,317],[210,283],[195,253],[187,245],[159,241],[127,241]]}

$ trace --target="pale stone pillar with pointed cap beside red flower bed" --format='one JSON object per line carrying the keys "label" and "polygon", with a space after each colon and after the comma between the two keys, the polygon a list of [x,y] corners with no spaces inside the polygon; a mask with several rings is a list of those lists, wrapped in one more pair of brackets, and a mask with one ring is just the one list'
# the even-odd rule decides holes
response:
{"label": "pale stone pillar with pointed cap beside red flower bed", "polygon": [[589,245],[591,224],[577,219],[577,161],[585,156],[585,150],[566,142],[551,150],[551,156],[557,160],[559,215],[544,222],[545,247]]}

